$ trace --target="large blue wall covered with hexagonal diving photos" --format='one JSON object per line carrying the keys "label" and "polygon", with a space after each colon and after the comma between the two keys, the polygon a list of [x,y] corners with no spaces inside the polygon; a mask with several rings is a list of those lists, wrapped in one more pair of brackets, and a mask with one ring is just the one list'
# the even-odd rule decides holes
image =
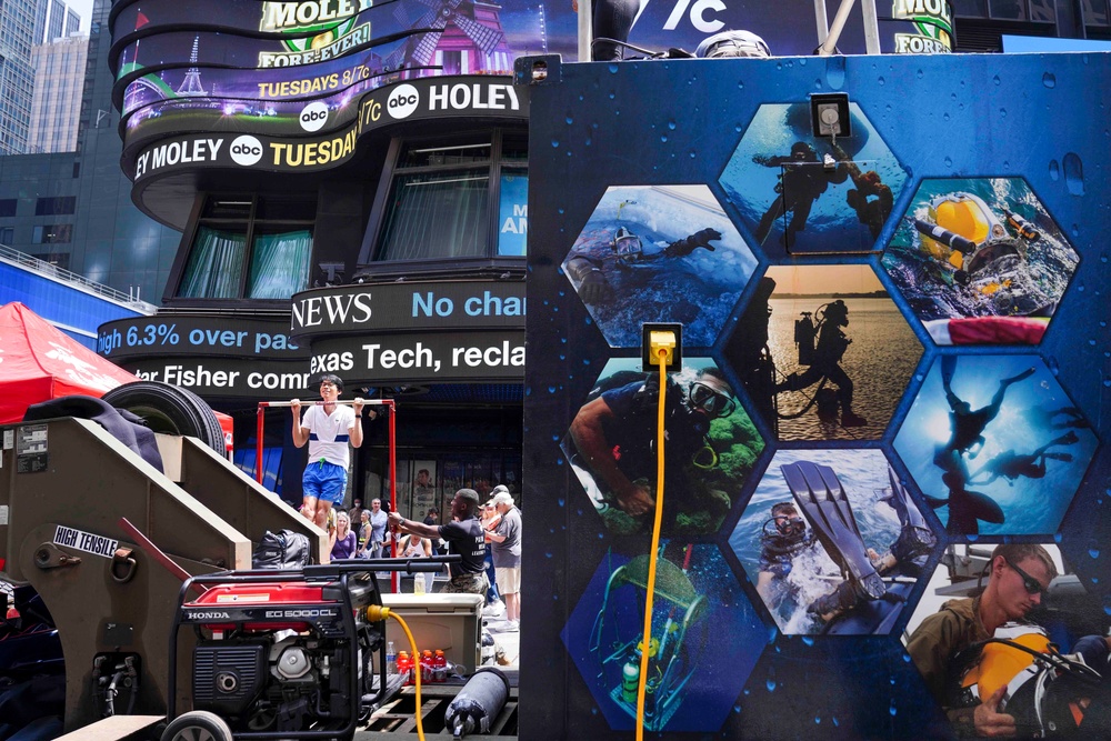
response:
{"label": "large blue wall covered with hexagonal diving photos", "polygon": [[[631,738],[645,647],[651,738],[953,737],[907,641],[1000,544],[1060,574],[1011,618],[1065,654],[1108,634],[1111,56],[547,57],[517,82],[521,738]],[[665,393],[644,322],[682,327]],[[1107,688],[1067,684],[992,707],[1111,734]]]}

